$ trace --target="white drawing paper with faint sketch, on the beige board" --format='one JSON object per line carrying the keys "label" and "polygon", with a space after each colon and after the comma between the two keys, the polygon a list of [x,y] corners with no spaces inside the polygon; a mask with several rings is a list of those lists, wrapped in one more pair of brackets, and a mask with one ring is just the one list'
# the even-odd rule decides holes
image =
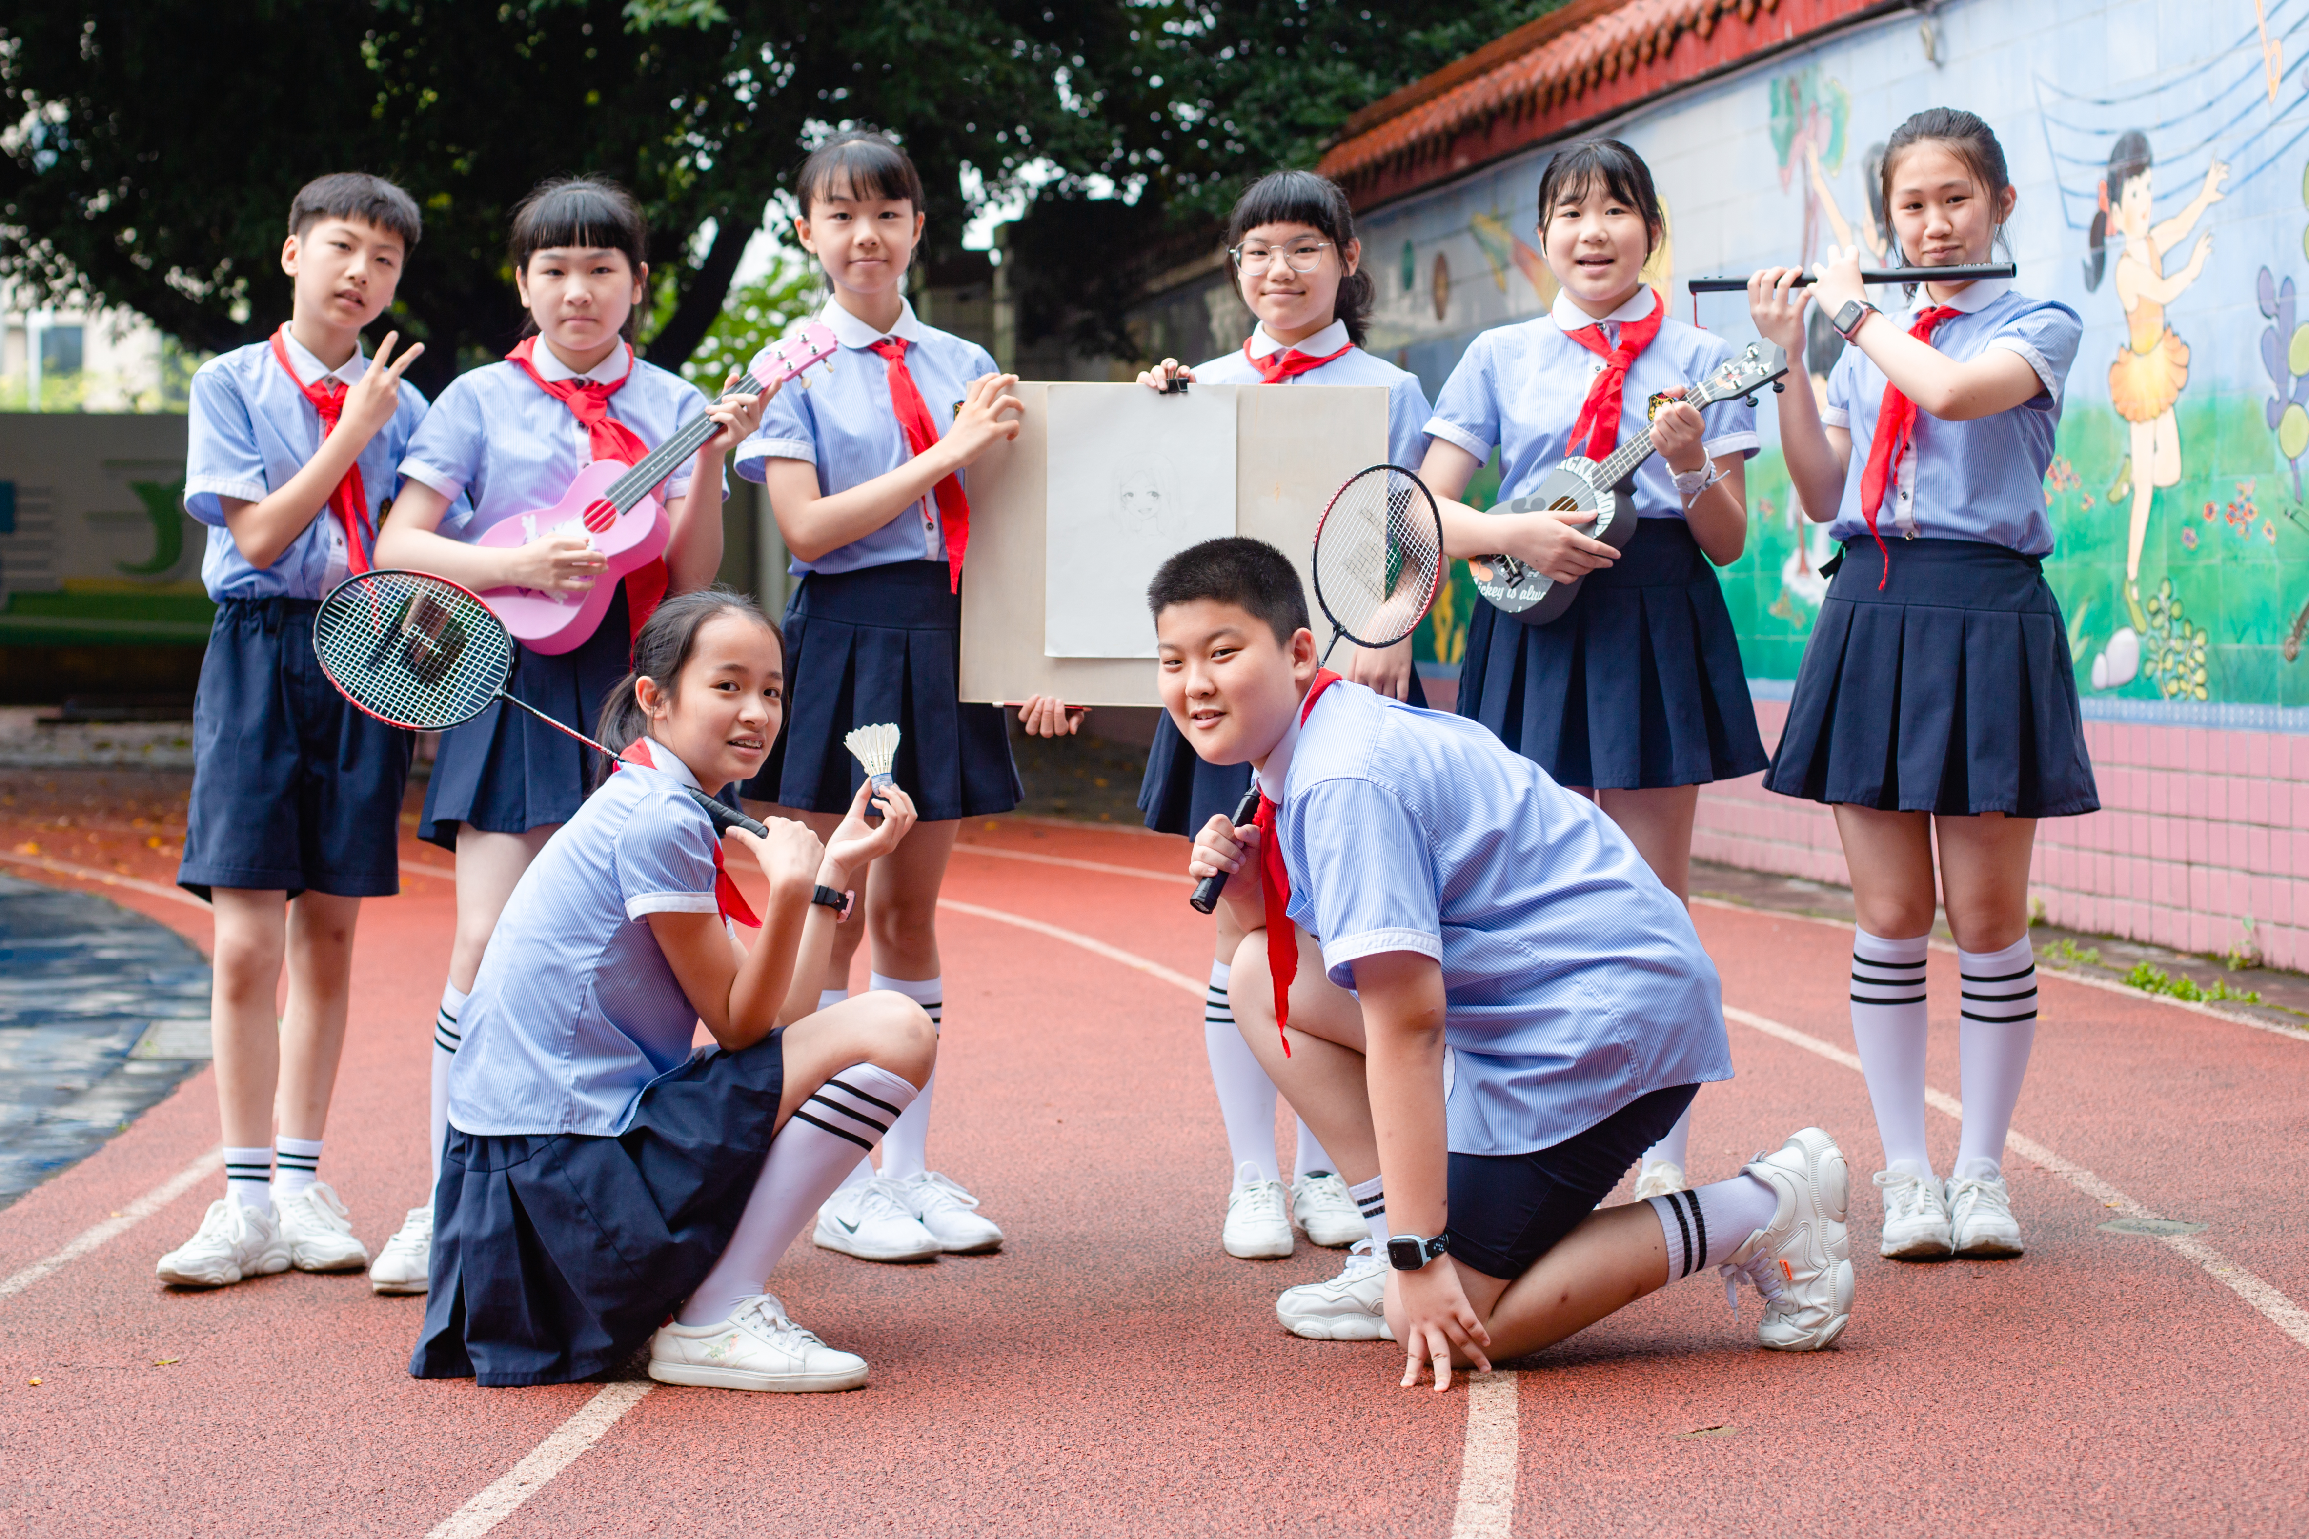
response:
{"label": "white drawing paper with faint sketch, on the beige board", "polygon": [[1048,658],[1152,658],[1148,581],[1235,533],[1235,388],[1051,385]]}

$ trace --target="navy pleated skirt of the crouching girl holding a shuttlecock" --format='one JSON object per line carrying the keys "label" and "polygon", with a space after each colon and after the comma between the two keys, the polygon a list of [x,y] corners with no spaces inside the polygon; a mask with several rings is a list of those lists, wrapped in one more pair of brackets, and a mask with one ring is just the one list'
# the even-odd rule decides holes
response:
{"label": "navy pleated skirt of the crouching girl holding a shuttlecock", "polygon": [[780,1038],[658,1075],[617,1138],[450,1128],[409,1373],[568,1384],[633,1357],[730,1248],[778,1124]]}

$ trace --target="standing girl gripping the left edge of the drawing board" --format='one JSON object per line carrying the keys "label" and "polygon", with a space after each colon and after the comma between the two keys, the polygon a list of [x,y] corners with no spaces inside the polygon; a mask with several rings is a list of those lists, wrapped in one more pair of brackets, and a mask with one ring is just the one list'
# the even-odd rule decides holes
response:
{"label": "standing girl gripping the left edge of the drawing board", "polygon": [[[1018,771],[997,706],[956,695],[970,496],[963,468],[1018,436],[1018,383],[986,348],[914,316],[905,270],[921,240],[921,175],[882,134],[836,134],[794,178],[794,233],[831,286],[822,318],[843,344],[831,376],[787,390],[737,452],[739,475],[769,491],[792,572],[785,635],[799,688],[785,736],[746,782],[755,803],[790,810],[820,835],[850,805],[861,771],[843,738],[896,722],[898,784],[921,828],[880,861],[861,893],[866,923],[845,923],[820,978],[827,1004],[850,981],[859,937],[873,934],[873,988],[942,1018],[937,888],[965,817],[1018,805]],[[1037,701],[1028,711],[1055,708]],[[1062,708],[1055,715],[1064,722]],[[882,1172],[857,1179],[820,1214],[817,1244],[877,1262],[993,1251],[1002,1230],[979,1200],[928,1168],[931,1091],[882,1144]]]}

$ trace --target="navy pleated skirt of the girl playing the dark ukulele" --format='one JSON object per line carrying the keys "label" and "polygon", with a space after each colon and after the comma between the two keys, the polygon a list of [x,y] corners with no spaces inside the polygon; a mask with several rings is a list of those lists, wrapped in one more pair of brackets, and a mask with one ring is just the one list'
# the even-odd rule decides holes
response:
{"label": "navy pleated skirt of the girl playing the dark ukulele", "polygon": [[1547,625],[1478,602],[1459,660],[1471,715],[1556,784],[1706,784],[1764,768],[1716,568],[1683,519],[1644,519]]}

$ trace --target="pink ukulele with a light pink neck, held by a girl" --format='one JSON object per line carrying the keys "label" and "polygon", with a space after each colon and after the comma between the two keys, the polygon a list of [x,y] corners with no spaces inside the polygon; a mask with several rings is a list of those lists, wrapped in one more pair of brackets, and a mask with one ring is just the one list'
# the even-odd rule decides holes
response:
{"label": "pink ukulele with a light pink neck, held by a girl", "polygon": [[[760,395],[794,378],[813,362],[831,358],[838,348],[834,332],[810,321],[778,346],[767,348],[755,360],[753,371],[730,388],[730,395]],[[665,549],[665,538],[672,531],[656,496],[658,487],[713,434],[713,418],[700,413],[644,455],[642,464],[621,466],[614,459],[589,464],[577,471],[570,489],[552,508],[517,512],[483,531],[476,545],[492,549],[517,549],[545,535],[584,533],[593,549],[610,558],[610,570],[584,593],[485,588],[480,598],[522,646],[552,655],[577,651],[591,639],[626,572],[649,565]]]}

